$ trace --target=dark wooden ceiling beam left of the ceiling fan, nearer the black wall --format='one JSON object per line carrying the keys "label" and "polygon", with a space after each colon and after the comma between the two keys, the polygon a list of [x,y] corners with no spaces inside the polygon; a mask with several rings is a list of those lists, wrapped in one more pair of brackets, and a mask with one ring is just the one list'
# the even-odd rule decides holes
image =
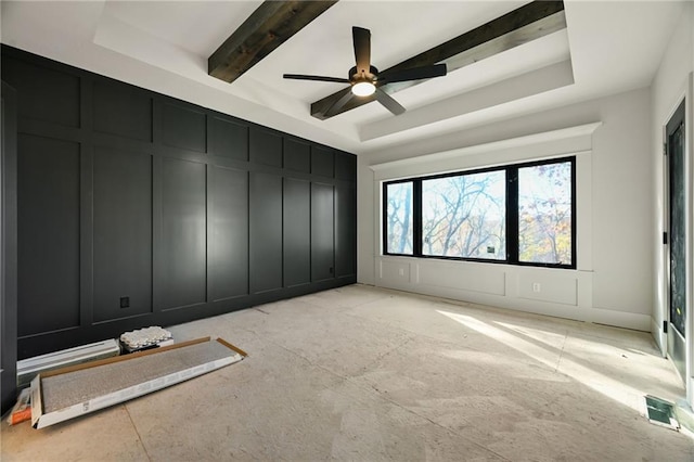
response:
{"label": "dark wooden ceiling beam left of the ceiling fan, nearer the black wall", "polygon": [[337,0],[265,1],[207,59],[207,73],[232,82]]}

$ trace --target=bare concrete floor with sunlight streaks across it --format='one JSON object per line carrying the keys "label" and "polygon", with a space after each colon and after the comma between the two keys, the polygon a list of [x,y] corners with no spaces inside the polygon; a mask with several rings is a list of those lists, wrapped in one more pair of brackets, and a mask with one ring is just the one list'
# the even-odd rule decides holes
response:
{"label": "bare concrete floor with sunlight streaks across it", "polygon": [[352,285],[169,328],[244,361],[46,429],[2,461],[693,461],[643,395],[684,390],[646,333]]}

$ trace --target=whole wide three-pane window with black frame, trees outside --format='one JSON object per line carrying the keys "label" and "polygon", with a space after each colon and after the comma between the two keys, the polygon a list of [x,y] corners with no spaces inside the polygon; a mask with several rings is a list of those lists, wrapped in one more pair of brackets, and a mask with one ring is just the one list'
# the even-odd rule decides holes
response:
{"label": "whole wide three-pane window with black frame, trees outside", "polygon": [[384,183],[384,253],[576,268],[576,158]]}

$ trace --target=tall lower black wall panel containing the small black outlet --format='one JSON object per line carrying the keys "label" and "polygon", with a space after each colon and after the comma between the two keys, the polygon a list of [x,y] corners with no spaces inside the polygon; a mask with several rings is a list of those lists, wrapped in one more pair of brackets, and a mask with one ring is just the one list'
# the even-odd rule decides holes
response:
{"label": "tall lower black wall panel containing the small black outlet", "polygon": [[93,210],[94,321],[151,312],[152,156],[97,147]]}

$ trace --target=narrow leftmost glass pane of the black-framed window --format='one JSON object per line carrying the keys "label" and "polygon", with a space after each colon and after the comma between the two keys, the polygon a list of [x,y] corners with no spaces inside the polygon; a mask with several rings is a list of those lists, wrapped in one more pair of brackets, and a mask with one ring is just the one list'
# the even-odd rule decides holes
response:
{"label": "narrow leftmost glass pane of the black-framed window", "polygon": [[386,253],[412,254],[412,182],[386,185]]}

